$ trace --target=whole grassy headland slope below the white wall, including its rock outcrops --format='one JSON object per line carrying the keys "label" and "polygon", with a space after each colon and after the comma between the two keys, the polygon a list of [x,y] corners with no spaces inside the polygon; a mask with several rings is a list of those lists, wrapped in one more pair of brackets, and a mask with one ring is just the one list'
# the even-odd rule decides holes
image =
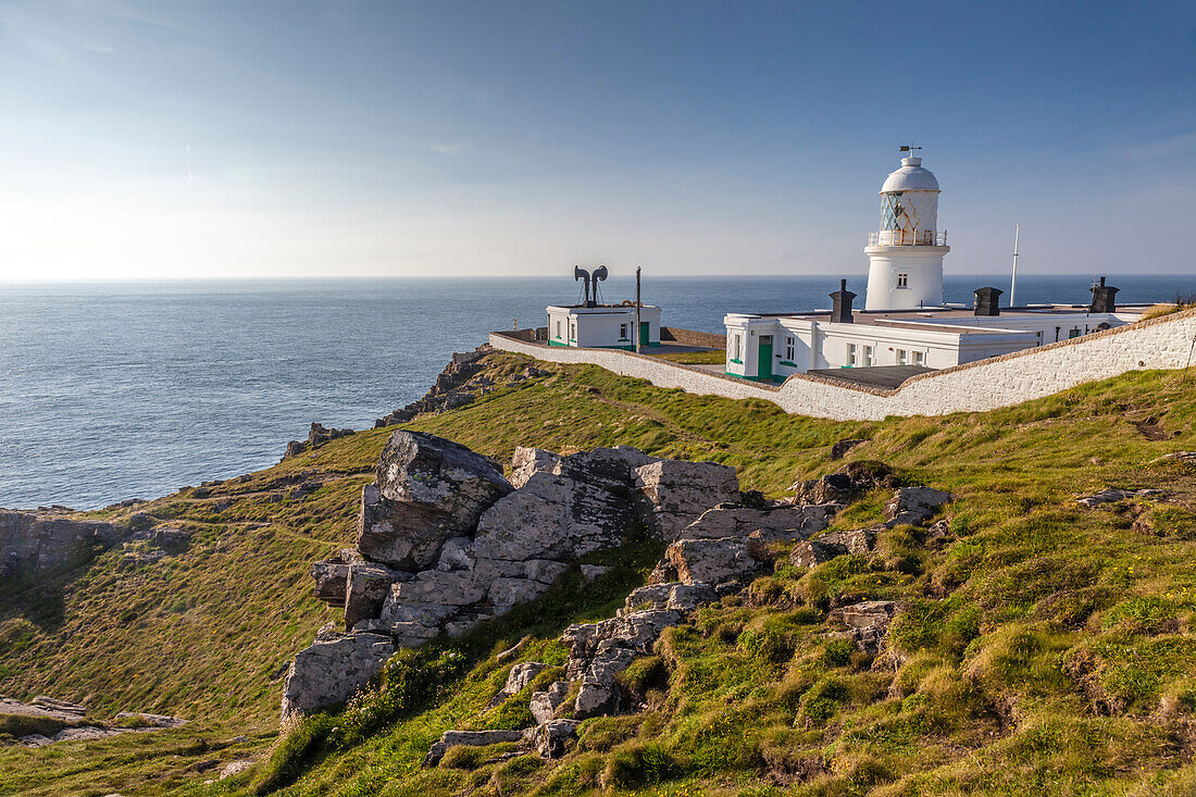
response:
{"label": "whole grassy headland slope below the white wall, including its rock outcrops", "polygon": [[[499,352],[477,364],[462,384],[492,384],[456,408],[73,516],[129,531],[0,584],[0,693],[114,726],[190,722],[42,748],[10,735],[0,791],[1196,784],[1182,375],[834,422]],[[689,483],[692,500],[670,497]],[[294,673],[343,675],[321,662],[362,637],[373,677],[280,730],[283,694],[307,699]]]}

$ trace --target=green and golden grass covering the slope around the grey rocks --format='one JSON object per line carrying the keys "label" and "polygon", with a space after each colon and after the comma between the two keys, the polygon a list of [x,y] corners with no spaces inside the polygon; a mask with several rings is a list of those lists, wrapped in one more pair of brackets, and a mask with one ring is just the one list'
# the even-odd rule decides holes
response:
{"label": "green and golden grass covering the slope around the grey rocks", "polygon": [[[517,365],[512,355],[492,363],[495,372]],[[895,529],[872,558],[779,566],[748,595],[667,632],[659,657],[628,676],[649,710],[587,722],[560,762],[458,755],[419,769],[443,730],[519,725],[517,700],[481,712],[506,674],[492,653],[533,632],[524,661],[560,663],[560,628],[609,616],[653,552],[624,552],[602,589],[563,584],[460,650],[399,657],[383,693],[271,747],[279,673],[334,615],[310,597],[307,565],[349,542],[358,493],[389,434],[362,432],[209,497],[187,491],[138,507],[191,529],[185,553],[122,567],[114,550],[44,588],[0,591],[0,693],[196,720],[136,738],[0,748],[0,792],[1196,790],[1196,479],[1147,464],[1196,449],[1196,390],[1180,375],[1131,373],[993,413],[855,424],[594,367],[551,370],[410,426],[500,458],[515,445],[626,443],[716,460],[739,469],[744,488],[771,495],[836,469],[830,445],[862,437],[849,458],[881,460],[957,495],[954,540],[933,546]],[[312,480],[323,486],[287,497]],[[1075,505],[1075,493],[1105,486],[1167,492]],[[880,498],[837,527],[871,522]],[[873,667],[824,635],[832,603],[872,597],[905,606],[891,632],[898,667]],[[233,742],[239,734],[249,741]],[[255,771],[202,785],[213,762],[271,749]]]}

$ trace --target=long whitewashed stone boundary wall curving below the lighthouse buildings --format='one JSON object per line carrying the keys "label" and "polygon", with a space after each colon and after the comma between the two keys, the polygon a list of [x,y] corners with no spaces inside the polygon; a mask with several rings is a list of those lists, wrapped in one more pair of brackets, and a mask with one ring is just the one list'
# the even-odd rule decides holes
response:
{"label": "long whitewashed stone boundary wall curving below the lighthouse buildings", "polygon": [[795,373],[780,387],[724,377],[692,366],[615,349],[537,346],[490,334],[490,345],[538,360],[598,365],[660,388],[727,398],[762,398],[787,413],[834,420],[945,415],[1008,407],[1085,382],[1139,369],[1182,369],[1196,340],[1196,310],[968,363],[908,379],[895,390],[846,387]]}

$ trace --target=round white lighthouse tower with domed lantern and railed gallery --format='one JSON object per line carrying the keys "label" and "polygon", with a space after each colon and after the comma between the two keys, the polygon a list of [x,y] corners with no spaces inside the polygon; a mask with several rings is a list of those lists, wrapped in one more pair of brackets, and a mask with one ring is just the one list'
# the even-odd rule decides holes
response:
{"label": "round white lighthouse tower with domed lantern and railed gallery", "polygon": [[901,169],[880,187],[880,230],[868,233],[868,292],[865,310],[916,310],[942,304],[942,256],[947,233],[938,232],[939,181],[902,147]]}

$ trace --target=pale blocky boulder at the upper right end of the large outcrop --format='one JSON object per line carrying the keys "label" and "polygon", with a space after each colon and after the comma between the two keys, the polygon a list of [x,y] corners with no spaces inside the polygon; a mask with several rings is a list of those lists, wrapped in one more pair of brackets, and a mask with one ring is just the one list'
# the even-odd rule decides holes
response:
{"label": "pale blocky boulder at the upper right end of the large outcrop", "polygon": [[736,469],[715,462],[659,460],[634,469],[640,521],[672,541],[712,506],[739,500]]}

